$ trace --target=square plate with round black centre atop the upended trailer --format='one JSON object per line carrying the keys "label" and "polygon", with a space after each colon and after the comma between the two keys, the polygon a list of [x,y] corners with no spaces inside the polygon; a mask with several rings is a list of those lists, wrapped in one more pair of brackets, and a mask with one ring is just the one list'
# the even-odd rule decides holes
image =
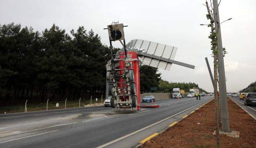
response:
{"label": "square plate with round black centre atop the upended trailer", "polygon": [[109,39],[111,41],[123,40],[124,32],[123,32],[123,24],[113,24],[107,26],[109,31]]}

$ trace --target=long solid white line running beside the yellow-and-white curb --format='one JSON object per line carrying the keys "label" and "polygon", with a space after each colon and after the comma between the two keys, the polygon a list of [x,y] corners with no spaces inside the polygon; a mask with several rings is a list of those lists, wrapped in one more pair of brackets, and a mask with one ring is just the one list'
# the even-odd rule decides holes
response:
{"label": "long solid white line running beside the yellow-and-white curb", "polygon": [[[205,100],[204,102],[206,102],[206,101],[208,101],[208,100],[209,100],[209,99]],[[204,103],[204,102],[201,102],[201,103],[199,103],[199,104],[202,104],[202,103]],[[199,104],[196,104],[196,105],[194,105],[194,106],[197,106],[197,105],[199,105]],[[132,133],[130,133],[130,134],[127,134],[127,135],[125,135],[125,136],[122,136],[122,137],[120,137],[120,138],[118,138],[118,139],[116,139],[116,140],[113,140],[113,141],[110,141],[110,142],[108,142],[108,143],[105,143],[105,144],[103,144],[103,145],[101,145],[101,146],[98,146],[97,148],[104,148],[105,146],[108,146],[108,145],[110,145],[110,144],[112,144],[112,143],[115,143],[115,142],[117,142],[117,141],[120,141],[120,140],[122,140],[122,139],[125,139],[125,138],[127,138],[128,136],[131,136],[131,135],[133,135],[133,134],[136,134],[137,132],[140,132],[140,131],[145,130],[145,129],[149,128],[149,127],[152,127],[152,126],[154,126],[154,125],[156,125],[156,124],[158,124],[158,123],[161,123],[161,122],[163,122],[163,121],[165,121],[165,120],[167,120],[167,119],[169,119],[169,118],[172,118],[172,117],[174,117],[174,116],[177,116],[178,114],[183,113],[183,112],[185,112],[185,111],[187,111],[187,110],[193,108],[194,106],[192,106],[192,107],[190,107],[190,108],[188,108],[188,109],[185,109],[185,110],[183,110],[183,111],[180,111],[179,113],[176,113],[176,114],[174,114],[174,115],[172,115],[172,116],[169,116],[169,117],[167,117],[167,118],[165,118],[165,119],[163,119],[163,120],[160,120],[160,121],[158,121],[158,122],[156,122],[156,123],[153,123],[152,125],[148,125],[148,126],[146,126],[146,127],[143,127],[143,128],[140,129],[140,130],[137,130],[137,131],[135,131],[135,132],[132,132]]]}

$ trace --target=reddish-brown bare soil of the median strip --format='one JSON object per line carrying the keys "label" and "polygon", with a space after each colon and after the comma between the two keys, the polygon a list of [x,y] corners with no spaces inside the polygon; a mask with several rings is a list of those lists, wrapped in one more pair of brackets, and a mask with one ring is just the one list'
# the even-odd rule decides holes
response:
{"label": "reddish-brown bare soil of the median strip", "polygon": [[[220,136],[222,148],[256,148],[256,120],[228,99],[230,128],[240,138]],[[197,124],[200,123],[200,124]],[[140,148],[215,148],[214,100],[181,120],[167,131],[144,143]]]}

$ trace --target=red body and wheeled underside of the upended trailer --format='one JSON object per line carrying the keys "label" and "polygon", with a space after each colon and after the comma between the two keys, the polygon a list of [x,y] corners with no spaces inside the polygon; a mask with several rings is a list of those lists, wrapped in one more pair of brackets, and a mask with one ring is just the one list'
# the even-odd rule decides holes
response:
{"label": "red body and wheeled underside of the upended trailer", "polygon": [[[119,69],[112,74],[112,82],[109,84],[109,93],[112,95],[110,104],[114,111],[140,110],[140,67],[137,53],[134,51],[120,53]],[[111,78],[110,78],[111,79]]]}

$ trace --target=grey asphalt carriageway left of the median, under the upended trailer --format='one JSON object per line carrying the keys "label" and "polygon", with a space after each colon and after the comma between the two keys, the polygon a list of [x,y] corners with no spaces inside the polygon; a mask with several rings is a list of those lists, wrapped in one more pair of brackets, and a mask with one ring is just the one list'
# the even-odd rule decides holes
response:
{"label": "grey asphalt carriageway left of the median, under the upended trailer", "polygon": [[129,113],[94,106],[2,114],[0,148],[129,148],[212,98],[159,100],[159,108]]}

